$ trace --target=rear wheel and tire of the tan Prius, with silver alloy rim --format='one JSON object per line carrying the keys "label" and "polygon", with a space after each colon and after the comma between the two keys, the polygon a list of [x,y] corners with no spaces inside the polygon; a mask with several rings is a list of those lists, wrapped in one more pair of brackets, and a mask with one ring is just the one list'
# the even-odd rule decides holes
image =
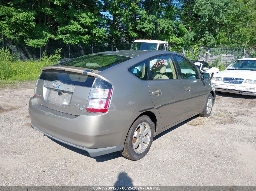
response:
{"label": "rear wheel and tire of the tan Prius, with silver alloy rim", "polygon": [[146,115],[140,116],[129,129],[121,154],[132,161],[145,157],[151,147],[153,137],[153,122]]}

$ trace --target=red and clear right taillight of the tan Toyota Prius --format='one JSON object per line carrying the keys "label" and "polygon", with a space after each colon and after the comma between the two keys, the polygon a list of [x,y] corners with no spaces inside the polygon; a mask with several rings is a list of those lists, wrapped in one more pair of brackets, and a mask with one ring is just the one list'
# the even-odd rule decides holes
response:
{"label": "red and clear right taillight of the tan Toyota Prius", "polygon": [[91,88],[86,111],[102,113],[107,112],[112,96],[113,87],[110,83],[96,78]]}

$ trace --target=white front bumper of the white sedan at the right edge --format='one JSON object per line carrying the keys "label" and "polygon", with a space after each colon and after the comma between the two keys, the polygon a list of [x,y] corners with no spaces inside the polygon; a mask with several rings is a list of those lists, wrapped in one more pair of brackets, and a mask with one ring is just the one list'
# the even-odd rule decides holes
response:
{"label": "white front bumper of the white sedan at the right edge", "polygon": [[[243,86],[241,84],[239,84],[239,85],[237,85],[237,84],[221,84],[219,82],[215,83],[215,81],[213,81],[213,85],[214,85],[215,91],[256,96],[256,87]],[[252,85],[252,86],[254,86],[254,85]],[[248,89],[248,88],[251,88],[251,89]]]}

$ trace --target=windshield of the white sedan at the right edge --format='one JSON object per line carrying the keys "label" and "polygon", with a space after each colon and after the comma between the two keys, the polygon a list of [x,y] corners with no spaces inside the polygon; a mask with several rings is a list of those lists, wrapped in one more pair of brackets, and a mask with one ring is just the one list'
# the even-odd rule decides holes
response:
{"label": "windshield of the white sedan at the right edge", "polygon": [[256,71],[256,60],[237,60],[228,66],[227,70],[253,70]]}

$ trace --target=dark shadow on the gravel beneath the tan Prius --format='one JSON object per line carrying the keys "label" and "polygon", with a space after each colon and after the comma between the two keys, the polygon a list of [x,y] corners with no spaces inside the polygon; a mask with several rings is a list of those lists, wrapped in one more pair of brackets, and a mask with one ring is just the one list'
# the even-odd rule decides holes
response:
{"label": "dark shadow on the gravel beneath the tan Prius", "polygon": [[[196,118],[197,116],[194,116],[194,117],[191,117],[173,127],[171,127],[170,129],[166,129],[164,132],[161,132],[160,134],[156,135],[154,138],[153,138],[153,141],[155,141],[156,139],[160,138],[161,136],[171,132],[172,130],[184,125],[185,123],[188,123],[189,121],[191,121],[192,119]],[[46,135],[47,136],[47,135]],[[48,136],[47,136],[48,137]],[[62,143],[62,142],[59,142],[51,137],[48,137],[49,139],[51,139],[52,141],[54,141],[55,143],[57,143],[58,145],[61,145],[62,147],[65,147],[71,151],[74,151],[78,154],[82,154],[86,157],[90,157],[90,158],[94,158],[96,160],[96,162],[105,162],[105,161],[109,161],[109,160],[112,160],[112,159],[115,159],[115,158],[119,158],[119,157],[122,157],[121,153],[120,152],[114,152],[114,153],[110,153],[110,154],[105,154],[105,155],[101,155],[101,156],[98,156],[98,157],[91,157],[89,155],[89,153],[87,151],[84,151],[82,149],[79,149],[79,148],[75,148],[75,147],[72,147],[70,145],[67,145],[65,143]]]}

